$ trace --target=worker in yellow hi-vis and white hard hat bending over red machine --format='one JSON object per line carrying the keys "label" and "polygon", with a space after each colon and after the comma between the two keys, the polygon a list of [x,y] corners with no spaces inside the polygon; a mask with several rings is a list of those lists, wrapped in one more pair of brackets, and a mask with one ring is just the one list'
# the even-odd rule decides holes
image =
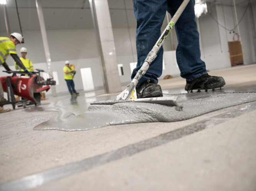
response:
{"label": "worker in yellow hi-vis and white hard hat bending over red machine", "polygon": [[[10,54],[15,62],[25,71],[25,73],[29,74],[30,76],[32,73],[28,70],[26,70],[25,66],[21,62],[20,58],[17,55],[15,45],[19,44],[23,40],[23,37],[18,32],[13,32],[10,35],[10,38],[8,37],[0,37],[0,65],[3,65],[5,70],[9,71],[10,68],[5,62],[8,55]],[[8,103],[8,101],[3,97],[3,87],[2,83],[0,83],[0,102],[2,104]],[[0,107],[0,113],[7,112],[9,110],[4,109],[3,107]]]}

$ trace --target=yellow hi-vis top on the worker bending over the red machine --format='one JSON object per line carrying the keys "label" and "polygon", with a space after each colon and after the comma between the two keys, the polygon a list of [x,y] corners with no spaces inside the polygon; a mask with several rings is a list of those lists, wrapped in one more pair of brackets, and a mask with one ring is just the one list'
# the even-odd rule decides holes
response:
{"label": "yellow hi-vis top on the worker bending over the red machine", "polygon": [[8,37],[0,37],[0,65],[5,62],[9,54],[17,54],[14,42]]}

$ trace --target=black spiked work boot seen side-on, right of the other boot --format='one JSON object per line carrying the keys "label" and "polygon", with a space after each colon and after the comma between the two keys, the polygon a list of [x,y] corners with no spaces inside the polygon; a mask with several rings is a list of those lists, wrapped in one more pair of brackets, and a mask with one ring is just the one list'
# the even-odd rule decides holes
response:
{"label": "black spiked work boot seen side-on, right of the other boot", "polygon": [[225,84],[225,80],[222,77],[203,74],[193,81],[187,81],[185,90],[188,92],[192,92],[193,89],[197,89],[198,91],[201,89],[204,89],[205,91],[208,89],[214,90],[215,88],[223,87]]}

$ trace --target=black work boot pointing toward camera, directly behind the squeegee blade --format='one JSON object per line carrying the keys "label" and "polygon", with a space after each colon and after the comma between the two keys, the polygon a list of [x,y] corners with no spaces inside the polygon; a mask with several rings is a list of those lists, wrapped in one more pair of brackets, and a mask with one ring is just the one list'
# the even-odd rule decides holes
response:
{"label": "black work boot pointing toward camera, directly behind the squeegee blade", "polygon": [[154,79],[147,79],[140,87],[136,87],[137,98],[163,96],[161,86],[154,82]]}

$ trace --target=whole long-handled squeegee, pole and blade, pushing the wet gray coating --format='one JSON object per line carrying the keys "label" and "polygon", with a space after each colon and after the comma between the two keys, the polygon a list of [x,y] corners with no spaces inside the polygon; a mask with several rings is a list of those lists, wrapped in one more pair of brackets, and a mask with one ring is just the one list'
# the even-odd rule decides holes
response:
{"label": "whole long-handled squeegee, pole and blade, pushing the wet gray coating", "polygon": [[[115,100],[93,102],[93,103],[91,103],[91,105],[93,105],[93,104],[108,104],[108,103],[114,104],[114,103],[119,103],[119,102],[134,102],[134,101],[138,101],[138,100],[139,100],[138,102],[142,102],[142,100],[147,99],[147,98],[137,99],[137,95],[135,95],[134,99],[133,99],[134,101],[132,101],[131,100],[131,97],[132,97],[131,95],[132,95],[133,92],[135,92],[135,88],[136,88],[137,84],[139,83],[140,78],[147,72],[147,70],[149,69],[149,65],[157,57],[157,52],[162,47],[166,37],[171,32],[171,30],[172,30],[173,26],[175,25],[175,23],[177,22],[178,18],[180,18],[180,15],[182,14],[184,9],[186,8],[189,1],[190,0],[184,0],[182,2],[182,4],[180,5],[180,7],[176,11],[176,13],[173,15],[171,21],[168,23],[164,32],[162,32],[161,36],[159,37],[159,39],[155,43],[154,47],[152,48],[152,50],[147,55],[147,58],[144,60],[144,63],[140,67],[140,70],[137,71],[137,73],[134,76],[134,78],[132,79],[131,83],[127,85],[127,88],[124,91],[122,91],[121,94],[117,95]],[[156,97],[153,97],[153,98],[156,98]],[[159,100],[159,98],[161,98],[161,97],[157,97],[157,99],[155,99],[155,100]],[[170,99],[170,97],[169,97],[169,99]],[[153,103],[152,100],[149,100],[149,99],[147,99],[147,100],[148,100],[148,102]],[[173,100],[173,102],[175,102],[175,100]],[[175,102],[175,104],[176,104],[176,102]]]}

